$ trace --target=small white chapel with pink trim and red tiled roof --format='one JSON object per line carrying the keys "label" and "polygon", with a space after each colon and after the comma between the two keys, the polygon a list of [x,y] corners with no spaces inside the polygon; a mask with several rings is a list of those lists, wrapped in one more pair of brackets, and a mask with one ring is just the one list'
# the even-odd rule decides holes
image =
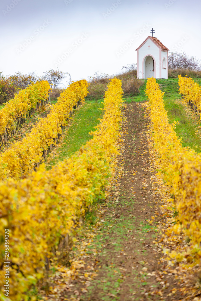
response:
{"label": "small white chapel with pink trim and red tiled roof", "polygon": [[148,77],[168,79],[168,51],[159,39],[148,36],[136,49],[137,78]]}

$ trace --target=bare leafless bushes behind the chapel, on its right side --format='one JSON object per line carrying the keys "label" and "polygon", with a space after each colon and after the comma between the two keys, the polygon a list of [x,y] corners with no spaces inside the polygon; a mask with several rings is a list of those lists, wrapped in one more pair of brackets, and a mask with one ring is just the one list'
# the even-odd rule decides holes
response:
{"label": "bare leafless bushes behind the chapel, on its right side", "polygon": [[195,57],[188,57],[184,52],[178,53],[172,52],[168,56],[168,68],[169,69],[188,69],[193,71],[200,71],[201,64],[200,60],[197,60]]}

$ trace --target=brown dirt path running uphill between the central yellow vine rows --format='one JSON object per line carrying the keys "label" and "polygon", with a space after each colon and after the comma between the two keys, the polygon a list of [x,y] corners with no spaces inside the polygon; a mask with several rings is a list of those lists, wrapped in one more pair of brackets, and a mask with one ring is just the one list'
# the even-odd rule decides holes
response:
{"label": "brown dirt path running uphill between the central yellow vine rows", "polygon": [[[157,196],[152,189],[153,169],[146,140],[147,121],[141,104],[127,104],[124,110],[124,147],[119,157],[120,178],[114,182],[101,219],[78,237],[71,262],[77,271],[65,289],[47,300],[129,301],[182,300],[174,274],[165,272],[159,258],[160,238],[156,230],[160,217]],[[155,189],[155,188],[154,188]],[[89,217],[88,217],[89,218]],[[93,218],[93,216],[91,217]],[[61,277],[58,276],[58,278]],[[62,278],[62,277],[61,277]],[[65,281],[61,280],[64,283]],[[54,279],[55,285],[59,281]],[[56,288],[57,287],[57,288]]]}

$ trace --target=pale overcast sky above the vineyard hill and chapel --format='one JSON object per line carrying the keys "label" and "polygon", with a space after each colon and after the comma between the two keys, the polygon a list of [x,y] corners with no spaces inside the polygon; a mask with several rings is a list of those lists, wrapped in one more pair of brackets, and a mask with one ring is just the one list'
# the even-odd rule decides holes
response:
{"label": "pale overcast sky above the vineyard hill and chapel", "polygon": [[201,59],[200,8],[198,0],[1,0],[0,71],[116,74],[137,63],[152,28],[169,53],[182,47]]}

